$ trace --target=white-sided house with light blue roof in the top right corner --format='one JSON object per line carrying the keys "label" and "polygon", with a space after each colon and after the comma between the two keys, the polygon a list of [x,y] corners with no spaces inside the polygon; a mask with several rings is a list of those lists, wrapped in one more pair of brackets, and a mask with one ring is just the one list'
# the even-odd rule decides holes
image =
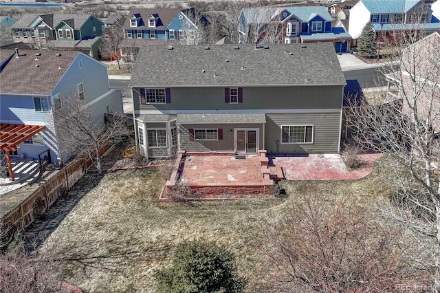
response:
{"label": "white-sided house with light blue roof in the top right corner", "polygon": [[393,41],[395,32],[402,30],[417,30],[421,34],[440,30],[440,23],[432,22],[430,6],[420,0],[360,0],[350,10],[349,34],[353,39],[358,39],[369,21],[377,41]]}

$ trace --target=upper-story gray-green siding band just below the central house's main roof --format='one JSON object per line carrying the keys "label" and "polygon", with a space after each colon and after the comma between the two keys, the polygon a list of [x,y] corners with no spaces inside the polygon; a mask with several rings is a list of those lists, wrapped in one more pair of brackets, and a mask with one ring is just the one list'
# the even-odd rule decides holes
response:
{"label": "upper-story gray-green siding band just below the central house's main roof", "polygon": [[314,87],[243,87],[243,103],[225,103],[225,87],[173,87],[170,104],[140,105],[133,90],[134,109],[162,113],[197,110],[340,109],[342,85]]}

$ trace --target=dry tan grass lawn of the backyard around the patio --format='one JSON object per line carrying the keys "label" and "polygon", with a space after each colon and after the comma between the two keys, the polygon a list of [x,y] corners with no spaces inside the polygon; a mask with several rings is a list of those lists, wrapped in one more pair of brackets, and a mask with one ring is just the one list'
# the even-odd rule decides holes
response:
{"label": "dry tan grass lawn of the backyard around the patio", "polygon": [[[95,176],[87,174],[78,184]],[[206,239],[236,254],[248,292],[267,292],[272,279],[256,249],[256,226],[267,218],[283,221],[289,204],[310,192],[330,201],[349,197],[359,206],[386,193],[372,174],[346,182],[282,182],[284,199],[160,204],[162,184],[152,170],[107,173],[97,180],[45,243],[54,241],[59,257],[67,259],[61,279],[84,292],[154,292],[153,270],[170,264],[177,243]]]}

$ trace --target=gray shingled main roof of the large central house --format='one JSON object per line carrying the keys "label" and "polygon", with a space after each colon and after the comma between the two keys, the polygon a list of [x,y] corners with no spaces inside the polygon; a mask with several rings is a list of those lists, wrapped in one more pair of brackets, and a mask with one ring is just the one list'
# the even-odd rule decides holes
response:
{"label": "gray shingled main roof of the large central house", "polygon": [[131,87],[345,85],[331,43],[154,45],[137,54]]}

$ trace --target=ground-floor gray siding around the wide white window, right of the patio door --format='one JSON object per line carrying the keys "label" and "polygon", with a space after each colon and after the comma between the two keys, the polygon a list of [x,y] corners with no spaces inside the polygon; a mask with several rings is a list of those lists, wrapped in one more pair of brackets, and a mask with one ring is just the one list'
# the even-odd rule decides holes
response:
{"label": "ground-floor gray siding around the wide white window, right of the patio door", "polygon": [[[277,148],[281,125],[313,125],[313,143],[281,143]],[[340,113],[267,114],[265,149],[269,153],[338,153],[340,126]]]}

